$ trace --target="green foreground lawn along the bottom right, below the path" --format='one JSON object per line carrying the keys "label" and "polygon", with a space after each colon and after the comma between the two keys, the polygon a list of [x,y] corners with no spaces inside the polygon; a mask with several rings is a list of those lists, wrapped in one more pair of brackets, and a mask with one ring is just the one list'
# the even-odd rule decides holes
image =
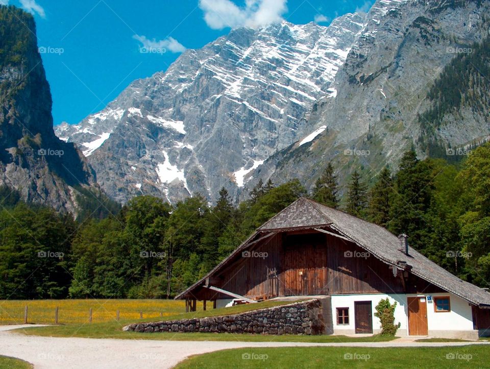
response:
{"label": "green foreground lawn along the bottom right, below the path", "polygon": [[[454,357],[454,358],[453,358]],[[488,367],[486,346],[440,348],[249,348],[193,356],[184,368],[470,368]]]}

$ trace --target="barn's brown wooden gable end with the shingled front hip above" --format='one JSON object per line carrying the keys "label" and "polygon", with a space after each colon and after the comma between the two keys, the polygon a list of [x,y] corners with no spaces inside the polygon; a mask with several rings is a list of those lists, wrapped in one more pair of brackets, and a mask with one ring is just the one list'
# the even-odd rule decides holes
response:
{"label": "barn's brown wooden gable end with the shingled front hip above", "polygon": [[442,291],[411,275],[403,264],[394,266],[367,252],[340,234],[307,200],[301,200],[262,226],[205,279],[177,298],[209,301],[236,294],[252,300]]}

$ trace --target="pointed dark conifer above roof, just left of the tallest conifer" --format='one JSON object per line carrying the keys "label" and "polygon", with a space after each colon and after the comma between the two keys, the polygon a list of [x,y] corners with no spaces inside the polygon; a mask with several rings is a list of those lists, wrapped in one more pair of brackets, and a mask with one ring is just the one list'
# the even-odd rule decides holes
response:
{"label": "pointed dark conifer above roof, just left of the tallest conifer", "polygon": [[379,226],[386,227],[389,222],[391,201],[393,200],[393,179],[390,170],[385,167],[373,188],[369,191],[369,220]]}

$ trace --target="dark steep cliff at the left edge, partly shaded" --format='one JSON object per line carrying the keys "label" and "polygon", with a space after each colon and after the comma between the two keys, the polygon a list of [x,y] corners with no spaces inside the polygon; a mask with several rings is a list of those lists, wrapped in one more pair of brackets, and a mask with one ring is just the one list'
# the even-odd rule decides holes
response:
{"label": "dark steep cliff at the left edge, partly shaded", "polygon": [[100,190],[82,153],[54,133],[34,18],[0,6],[0,26],[0,185],[77,215],[80,199]]}

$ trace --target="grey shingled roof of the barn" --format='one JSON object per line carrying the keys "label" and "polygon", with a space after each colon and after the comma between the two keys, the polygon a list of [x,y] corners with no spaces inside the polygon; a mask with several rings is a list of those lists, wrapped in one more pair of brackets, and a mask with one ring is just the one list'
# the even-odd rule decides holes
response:
{"label": "grey shingled roof of the barn", "polygon": [[[406,262],[410,272],[415,276],[448,292],[452,292],[472,304],[490,307],[489,292],[459,279],[411,247],[408,248],[408,255],[406,255],[400,248],[399,238],[388,230],[309,199],[301,198],[292,203],[259,227],[257,231],[258,233],[268,233],[326,226],[349,238],[359,247],[388,264],[399,266],[401,261]],[[192,288],[202,285],[206,278],[212,276],[220,267],[227,264],[241,249],[247,247],[248,242],[255,238],[258,233],[241,244],[228,258],[211,270],[206,277],[179,294],[177,298],[182,297]]]}

